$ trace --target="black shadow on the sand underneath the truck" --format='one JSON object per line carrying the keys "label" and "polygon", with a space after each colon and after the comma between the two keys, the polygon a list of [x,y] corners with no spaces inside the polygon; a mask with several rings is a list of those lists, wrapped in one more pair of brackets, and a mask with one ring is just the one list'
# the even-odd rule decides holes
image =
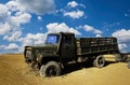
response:
{"label": "black shadow on the sand underneath the truck", "polygon": [[[109,65],[116,63],[117,61],[106,61],[104,67],[107,67]],[[104,68],[103,67],[103,68]],[[74,71],[81,70],[82,68],[93,68],[92,62],[78,62],[78,63],[69,63],[65,66],[65,69],[62,72],[62,75],[69,74]]]}

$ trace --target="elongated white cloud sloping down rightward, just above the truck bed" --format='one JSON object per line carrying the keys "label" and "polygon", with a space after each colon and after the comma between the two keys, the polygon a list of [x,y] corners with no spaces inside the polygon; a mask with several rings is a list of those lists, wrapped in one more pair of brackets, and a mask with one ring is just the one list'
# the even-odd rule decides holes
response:
{"label": "elongated white cloud sloping down rightward, just above the truck bed", "polygon": [[101,30],[95,29],[94,27],[89,26],[89,25],[79,26],[79,28],[83,28],[86,31],[88,31],[88,32],[93,32],[93,33],[95,33],[95,34],[102,34],[102,33],[103,33]]}

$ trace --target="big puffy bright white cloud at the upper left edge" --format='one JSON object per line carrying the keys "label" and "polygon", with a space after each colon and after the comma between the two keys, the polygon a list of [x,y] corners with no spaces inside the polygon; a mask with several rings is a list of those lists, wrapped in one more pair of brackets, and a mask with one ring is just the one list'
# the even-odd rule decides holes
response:
{"label": "big puffy bright white cloud at the upper left edge", "polygon": [[29,23],[31,15],[16,1],[0,4],[0,36],[4,40],[15,41],[22,36],[22,24]]}

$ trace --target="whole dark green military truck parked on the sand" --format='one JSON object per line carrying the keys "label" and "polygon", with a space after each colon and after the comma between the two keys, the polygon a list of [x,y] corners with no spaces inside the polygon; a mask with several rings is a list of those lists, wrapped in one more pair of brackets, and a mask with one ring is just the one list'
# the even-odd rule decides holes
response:
{"label": "whole dark green military truck parked on the sand", "polygon": [[116,38],[75,38],[72,32],[49,33],[43,45],[25,46],[24,52],[25,61],[43,77],[60,75],[70,62],[92,60],[94,67],[102,68],[105,54],[115,54],[118,61],[125,59]]}

